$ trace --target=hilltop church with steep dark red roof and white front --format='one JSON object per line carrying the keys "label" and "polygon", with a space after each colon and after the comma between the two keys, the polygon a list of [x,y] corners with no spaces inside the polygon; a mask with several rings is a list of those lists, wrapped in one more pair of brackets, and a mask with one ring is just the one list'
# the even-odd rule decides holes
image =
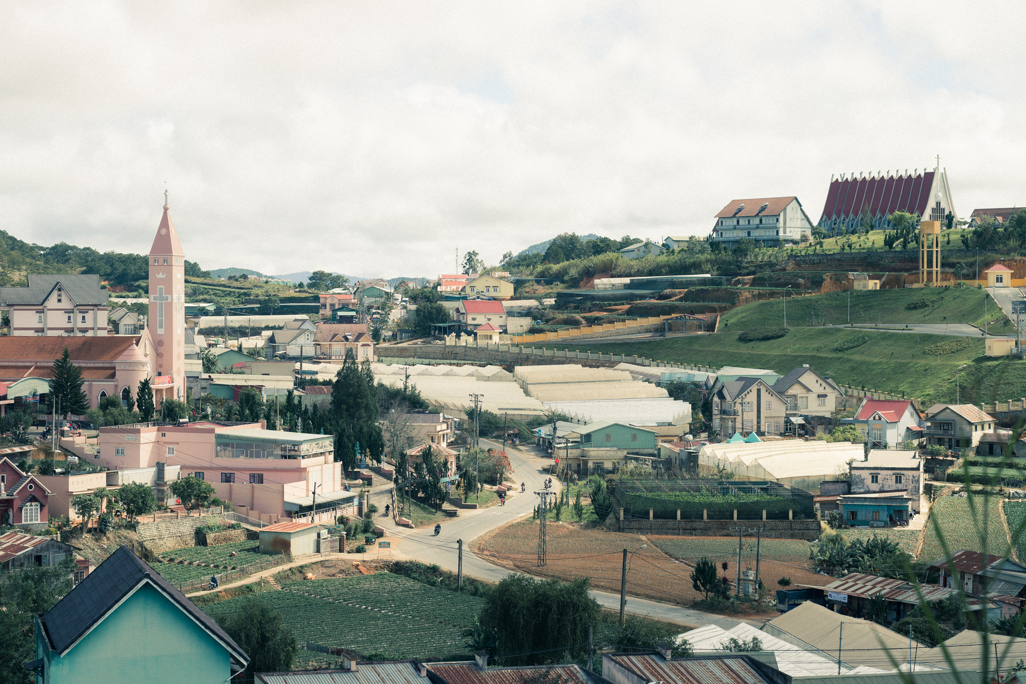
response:
{"label": "hilltop church with steep dark red roof and white front", "polygon": [[895,211],[918,214],[923,220],[939,220],[945,230],[958,220],[946,169],[913,169],[909,173],[891,171],[841,174],[830,177],[827,201],[818,226],[828,233],[852,233],[864,216],[873,230],[891,230],[889,216]]}

